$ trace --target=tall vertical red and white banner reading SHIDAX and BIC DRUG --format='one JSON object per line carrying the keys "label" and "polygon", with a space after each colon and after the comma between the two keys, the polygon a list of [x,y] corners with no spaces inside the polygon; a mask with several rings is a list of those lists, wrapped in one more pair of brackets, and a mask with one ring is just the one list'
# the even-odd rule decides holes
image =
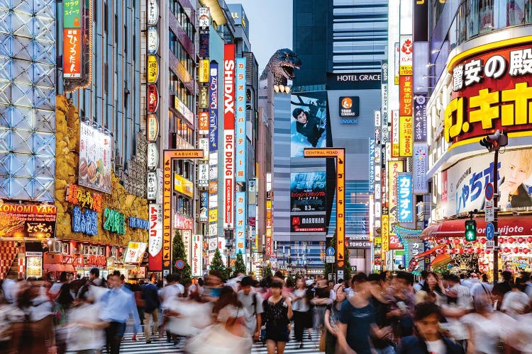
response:
{"label": "tall vertical red and white banner reading SHIDAX and BIC DRUG", "polygon": [[223,57],[223,223],[234,227],[235,178],[235,45],[224,45]]}

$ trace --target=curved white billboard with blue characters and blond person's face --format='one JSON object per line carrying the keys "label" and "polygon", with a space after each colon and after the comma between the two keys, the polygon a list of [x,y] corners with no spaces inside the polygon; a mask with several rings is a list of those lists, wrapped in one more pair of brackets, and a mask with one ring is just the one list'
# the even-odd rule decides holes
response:
{"label": "curved white billboard with blue characters and blond person's face", "polygon": [[[463,159],[444,171],[447,175],[446,217],[484,209],[484,189],[493,182],[491,154]],[[499,154],[499,207],[532,207],[532,148],[508,149]]]}

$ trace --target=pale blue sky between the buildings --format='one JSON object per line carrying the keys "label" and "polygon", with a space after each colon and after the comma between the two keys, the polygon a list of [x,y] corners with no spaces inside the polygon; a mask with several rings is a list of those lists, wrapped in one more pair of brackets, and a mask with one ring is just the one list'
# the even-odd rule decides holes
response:
{"label": "pale blue sky between the buildings", "polygon": [[292,0],[226,0],[242,4],[250,25],[251,51],[259,63],[259,75],[276,50],[292,49]]}

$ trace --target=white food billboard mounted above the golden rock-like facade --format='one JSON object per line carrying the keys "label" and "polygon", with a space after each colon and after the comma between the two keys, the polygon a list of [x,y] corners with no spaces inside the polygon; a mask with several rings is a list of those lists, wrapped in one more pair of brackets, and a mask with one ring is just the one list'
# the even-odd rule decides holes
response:
{"label": "white food billboard mounted above the golden rock-like facade", "polygon": [[79,185],[111,193],[111,137],[79,123]]}

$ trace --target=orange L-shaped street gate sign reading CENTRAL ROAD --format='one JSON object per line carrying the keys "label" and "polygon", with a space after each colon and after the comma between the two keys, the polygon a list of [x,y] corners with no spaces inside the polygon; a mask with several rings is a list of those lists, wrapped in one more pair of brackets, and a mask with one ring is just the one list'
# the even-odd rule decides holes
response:
{"label": "orange L-shaped street gate sign reading CENTRAL ROAD", "polygon": [[311,148],[303,150],[304,157],[336,157],[336,266],[345,261],[345,149]]}

